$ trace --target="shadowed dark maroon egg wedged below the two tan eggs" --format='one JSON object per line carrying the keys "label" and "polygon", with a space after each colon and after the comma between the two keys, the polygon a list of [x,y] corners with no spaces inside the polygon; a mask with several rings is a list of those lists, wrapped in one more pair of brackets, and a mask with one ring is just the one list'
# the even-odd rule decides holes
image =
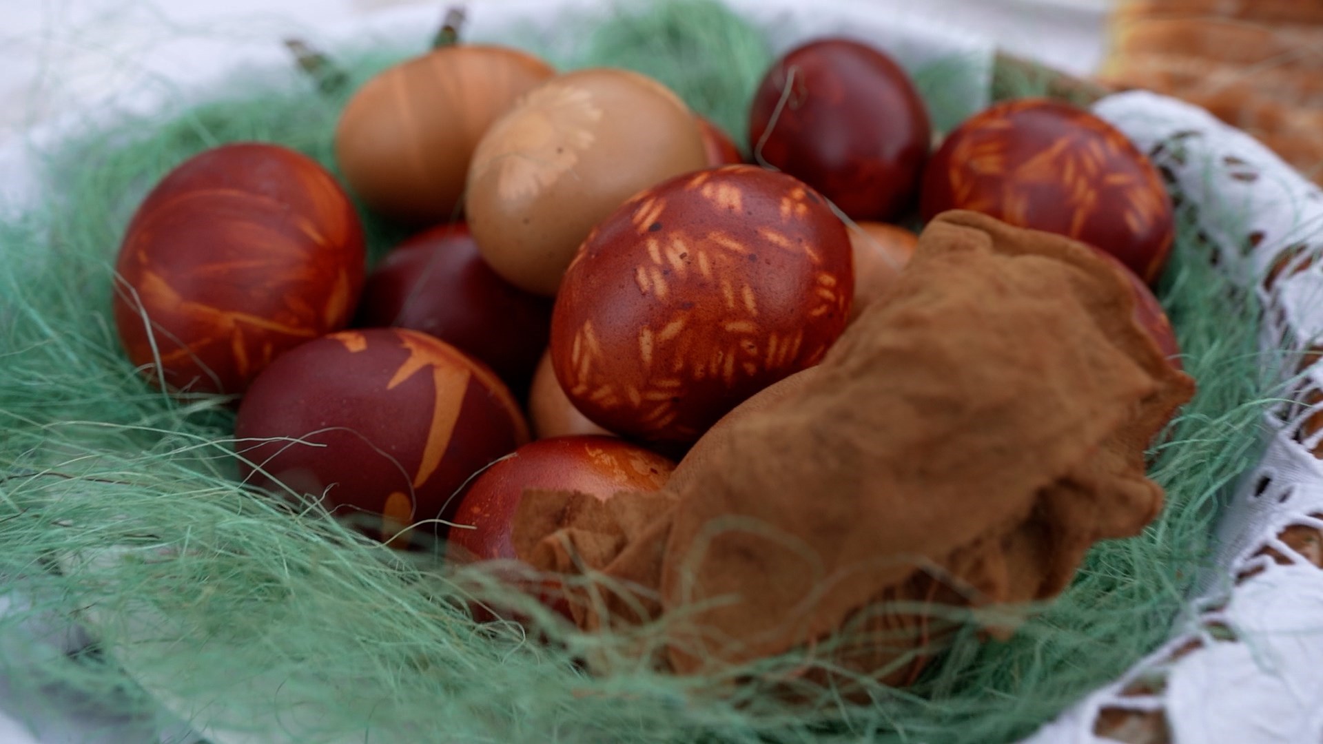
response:
{"label": "shadowed dark maroon egg wedged below the two tan eggs", "polygon": [[456,222],[425,230],[381,259],[368,275],[356,324],[431,334],[523,392],[546,348],[552,302],[497,277]]}

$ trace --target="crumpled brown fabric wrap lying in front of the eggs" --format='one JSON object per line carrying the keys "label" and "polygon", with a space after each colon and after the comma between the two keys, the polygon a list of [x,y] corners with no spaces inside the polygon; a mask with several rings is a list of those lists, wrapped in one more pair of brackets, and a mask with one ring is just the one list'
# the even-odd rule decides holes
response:
{"label": "crumpled brown fabric wrap lying in front of the eggs", "polygon": [[1086,246],[941,214],[885,301],[820,365],[726,416],[665,490],[531,490],[516,551],[635,588],[583,594],[583,629],[683,617],[662,659],[676,673],[814,647],[853,622],[835,663],[909,682],[933,620],[880,601],[1049,598],[1093,543],[1158,515],[1144,449],[1195,384],[1132,302]]}

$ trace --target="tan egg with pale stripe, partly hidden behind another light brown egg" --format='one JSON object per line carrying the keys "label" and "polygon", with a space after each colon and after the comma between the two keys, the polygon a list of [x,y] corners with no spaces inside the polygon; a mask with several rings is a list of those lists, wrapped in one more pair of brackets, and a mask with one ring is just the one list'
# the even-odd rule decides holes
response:
{"label": "tan egg with pale stripe, partly hidden behind another light brown egg", "polygon": [[336,162],[374,210],[409,222],[452,220],[478,140],[553,74],[531,54],[488,45],[446,46],[401,62],[344,107]]}

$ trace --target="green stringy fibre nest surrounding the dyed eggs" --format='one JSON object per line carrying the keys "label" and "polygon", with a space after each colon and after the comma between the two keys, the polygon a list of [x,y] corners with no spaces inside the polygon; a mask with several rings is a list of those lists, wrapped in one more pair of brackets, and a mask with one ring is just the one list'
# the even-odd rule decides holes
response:
{"label": "green stringy fibre nest surrounding the dyed eggs", "polygon": [[[407,53],[343,61],[357,83]],[[601,19],[581,53],[556,61],[654,74],[742,132],[771,54],[720,5],[684,0]],[[942,75],[916,74],[939,122],[951,119]],[[998,94],[1050,85],[1003,75]],[[167,702],[228,731],[280,721],[283,733],[259,740],[987,743],[1032,732],[1166,639],[1209,560],[1226,486],[1257,459],[1271,379],[1256,303],[1209,265],[1191,229],[1160,293],[1200,381],[1155,451],[1166,511],[1142,536],[1097,545],[1070,589],[1009,642],[962,631],[917,684],[872,686],[872,702],[822,688],[792,707],[758,683],[718,696],[709,691],[726,680],[644,669],[590,676],[576,659],[639,639],[578,634],[516,597],[501,600],[529,605],[549,642],[475,624],[468,601],[500,594],[479,576],[394,555],[311,504],[241,490],[225,401],[173,401],[122,355],[108,318],[114,256],[138,200],[204,148],[275,142],[333,169],[343,102],[291,70],[165,120],[114,123],[54,151],[44,205],[0,222],[0,573],[32,608],[0,622],[13,637],[33,616],[78,617],[98,638],[98,653],[44,659],[20,682],[73,687],[143,718]],[[368,226],[376,254],[400,237]],[[11,667],[30,661],[4,647]],[[775,678],[803,663],[791,654],[757,671]]]}

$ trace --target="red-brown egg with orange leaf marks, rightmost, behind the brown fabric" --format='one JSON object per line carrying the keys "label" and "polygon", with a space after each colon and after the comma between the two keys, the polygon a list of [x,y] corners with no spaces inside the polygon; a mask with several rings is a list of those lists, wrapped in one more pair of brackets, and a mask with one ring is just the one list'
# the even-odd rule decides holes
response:
{"label": "red-brown egg with orange leaf marks, rightmost, behind the brown fabric", "polygon": [[994,105],[953,131],[923,176],[922,213],[983,212],[1115,256],[1152,283],[1175,236],[1152,163],[1121,131],[1060,101]]}

